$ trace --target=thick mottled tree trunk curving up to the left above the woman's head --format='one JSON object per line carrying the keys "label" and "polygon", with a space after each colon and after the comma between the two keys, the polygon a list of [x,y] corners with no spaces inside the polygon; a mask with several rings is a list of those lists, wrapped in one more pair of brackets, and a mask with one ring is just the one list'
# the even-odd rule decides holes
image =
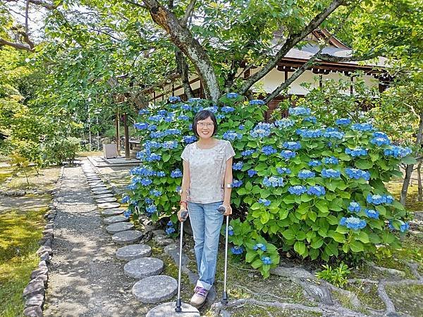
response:
{"label": "thick mottled tree trunk curving up to the left above the woman's head", "polygon": [[161,6],[158,1],[144,0],[144,4],[147,6],[150,15],[152,15],[153,21],[163,27],[170,35],[173,44],[178,46],[190,58],[190,61],[202,78],[206,98],[216,102],[221,92],[207,51],[193,37],[188,28],[181,25],[178,18],[168,11],[168,9],[164,8],[164,6]]}

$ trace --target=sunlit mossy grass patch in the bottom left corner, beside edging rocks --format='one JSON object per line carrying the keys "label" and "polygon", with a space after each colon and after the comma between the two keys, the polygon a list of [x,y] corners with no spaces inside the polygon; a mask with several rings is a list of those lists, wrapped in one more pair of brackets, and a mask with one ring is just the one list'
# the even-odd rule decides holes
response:
{"label": "sunlit mossy grass patch in the bottom left corner, beside edging rocks", "polygon": [[0,316],[20,316],[22,292],[37,268],[35,252],[47,211],[8,211],[0,215]]}

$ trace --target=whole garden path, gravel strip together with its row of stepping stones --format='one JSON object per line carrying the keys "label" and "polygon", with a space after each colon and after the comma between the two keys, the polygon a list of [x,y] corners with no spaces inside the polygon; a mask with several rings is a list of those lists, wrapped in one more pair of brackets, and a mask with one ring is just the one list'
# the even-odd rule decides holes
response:
{"label": "whole garden path, gravel strip together with its row of stepping stones", "polygon": [[[145,314],[146,307],[134,304],[134,299],[149,304],[164,302],[174,297],[178,283],[170,276],[158,275],[164,269],[163,261],[149,257],[151,247],[148,245],[133,244],[141,239],[142,232],[134,230],[133,223],[122,215],[124,209],[114,202],[116,198],[109,196],[111,191],[92,167],[84,164],[82,170],[93,197],[90,197],[86,183],[82,184],[84,180],[80,178],[80,168],[66,169],[58,201],[60,207],[53,245],[56,256],[51,263],[44,315]],[[97,206],[92,198],[97,201]],[[99,210],[103,217],[100,217]],[[109,232],[111,236],[104,236],[104,232]],[[114,248],[110,242],[129,245],[119,248],[113,259]],[[128,262],[123,265],[117,260]],[[128,286],[132,286],[132,294]],[[174,302],[171,304],[174,309]]]}

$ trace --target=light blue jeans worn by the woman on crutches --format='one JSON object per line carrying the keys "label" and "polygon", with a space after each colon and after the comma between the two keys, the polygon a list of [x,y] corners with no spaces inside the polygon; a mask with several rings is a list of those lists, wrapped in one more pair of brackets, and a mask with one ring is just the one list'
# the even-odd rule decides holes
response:
{"label": "light blue jeans worn by the woman on crutches", "polygon": [[199,204],[188,201],[188,212],[195,242],[199,278],[197,286],[210,290],[216,274],[217,249],[223,215],[217,211],[223,201]]}

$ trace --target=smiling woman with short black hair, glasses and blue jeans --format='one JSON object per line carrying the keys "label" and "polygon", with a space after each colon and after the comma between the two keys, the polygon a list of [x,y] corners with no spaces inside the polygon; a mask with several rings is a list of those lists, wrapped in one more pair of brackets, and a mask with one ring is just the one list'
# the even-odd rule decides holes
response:
{"label": "smiling woman with short black hair, glasses and blue jeans", "polygon": [[180,211],[188,210],[195,241],[195,258],[199,278],[192,306],[201,306],[214,282],[217,249],[223,215],[219,206],[231,215],[232,158],[231,143],[215,139],[216,118],[212,111],[202,110],[195,115],[192,130],[198,141],[188,144],[183,159]]}

